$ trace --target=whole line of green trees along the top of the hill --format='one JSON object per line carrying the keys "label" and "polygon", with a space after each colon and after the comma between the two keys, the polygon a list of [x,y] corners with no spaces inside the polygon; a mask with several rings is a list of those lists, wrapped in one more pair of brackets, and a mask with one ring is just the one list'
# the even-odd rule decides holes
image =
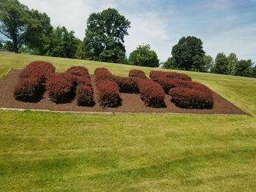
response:
{"label": "whole line of green trees along the top of the hill", "polygon": [[[62,58],[80,58],[138,66],[159,66],[159,58],[150,45],[138,45],[126,56],[124,37],[130,21],[116,9],[108,8],[89,15],[83,41],[64,26],[54,28],[46,13],[29,9],[18,0],[0,0],[0,48],[15,53],[29,52]],[[215,60],[206,55],[197,37],[182,37],[164,63],[166,69],[214,72],[256,77],[252,60],[240,60],[235,53],[219,53]]]}

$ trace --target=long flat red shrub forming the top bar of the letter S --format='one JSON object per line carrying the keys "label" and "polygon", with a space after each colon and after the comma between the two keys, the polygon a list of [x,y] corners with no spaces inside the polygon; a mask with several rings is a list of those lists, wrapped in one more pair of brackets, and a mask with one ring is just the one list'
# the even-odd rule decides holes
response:
{"label": "long flat red shrub forming the top bar of the letter S", "polygon": [[151,79],[156,79],[158,77],[167,77],[167,78],[174,78],[180,80],[187,80],[192,81],[191,77],[187,74],[177,73],[177,72],[160,72],[160,71],[151,71],[149,74]]}

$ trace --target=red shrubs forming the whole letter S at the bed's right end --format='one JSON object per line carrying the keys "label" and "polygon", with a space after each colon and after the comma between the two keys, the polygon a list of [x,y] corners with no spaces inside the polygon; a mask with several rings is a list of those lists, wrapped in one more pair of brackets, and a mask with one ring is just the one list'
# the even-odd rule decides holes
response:
{"label": "red shrubs forming the whole letter S at the bed's right end", "polygon": [[187,74],[152,71],[150,77],[170,94],[178,107],[189,109],[211,109],[214,98],[211,89],[199,82],[192,82]]}

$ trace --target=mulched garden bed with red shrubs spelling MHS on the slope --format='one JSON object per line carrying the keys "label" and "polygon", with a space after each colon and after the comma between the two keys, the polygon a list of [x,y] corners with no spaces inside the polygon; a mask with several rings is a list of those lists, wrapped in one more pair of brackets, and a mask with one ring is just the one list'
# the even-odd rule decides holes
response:
{"label": "mulched garden bed with red shrubs spelling MHS on the slope", "polygon": [[98,68],[90,75],[83,66],[56,73],[47,62],[12,69],[0,81],[0,107],[84,112],[181,112],[245,114],[187,74],[140,70],[118,77]]}

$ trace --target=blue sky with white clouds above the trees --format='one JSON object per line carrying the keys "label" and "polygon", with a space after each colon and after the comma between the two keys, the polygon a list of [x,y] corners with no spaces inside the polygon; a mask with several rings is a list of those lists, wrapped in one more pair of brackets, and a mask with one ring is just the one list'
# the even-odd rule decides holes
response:
{"label": "blue sky with white clouds above the trees", "polygon": [[116,8],[130,22],[124,45],[127,55],[149,44],[160,61],[171,55],[181,37],[203,41],[207,55],[236,53],[256,63],[256,0],[20,0],[46,12],[53,26],[66,26],[79,39],[85,37],[92,12]]}

